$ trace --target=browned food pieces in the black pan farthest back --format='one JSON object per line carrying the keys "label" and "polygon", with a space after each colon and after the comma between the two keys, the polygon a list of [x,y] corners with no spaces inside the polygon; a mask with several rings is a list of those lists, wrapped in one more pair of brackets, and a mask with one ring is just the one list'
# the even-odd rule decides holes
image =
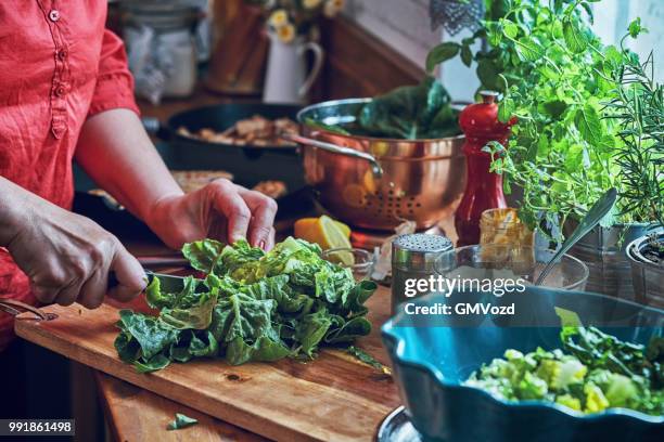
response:
{"label": "browned food pieces in the black pan farthest back", "polygon": [[222,132],[203,128],[191,132],[186,127],[178,128],[178,134],[210,143],[234,144],[239,146],[294,146],[295,144],[279,138],[280,133],[298,133],[298,127],[290,118],[267,119],[260,115],[237,121]]}

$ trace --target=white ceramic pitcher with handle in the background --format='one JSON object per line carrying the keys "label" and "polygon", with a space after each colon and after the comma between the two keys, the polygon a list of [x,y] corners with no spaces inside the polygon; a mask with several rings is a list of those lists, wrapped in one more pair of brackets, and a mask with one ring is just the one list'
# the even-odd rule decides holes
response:
{"label": "white ceramic pitcher with handle in the background", "polygon": [[[314,66],[307,75],[305,55],[314,54]],[[312,41],[297,37],[285,43],[270,36],[267,74],[263,101],[266,103],[304,103],[316,81],[323,62],[322,48]]]}

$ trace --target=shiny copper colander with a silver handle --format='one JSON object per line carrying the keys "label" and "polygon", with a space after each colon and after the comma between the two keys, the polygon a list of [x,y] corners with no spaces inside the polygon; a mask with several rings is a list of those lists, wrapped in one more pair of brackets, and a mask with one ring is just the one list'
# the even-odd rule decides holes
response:
{"label": "shiny copper colander with a silver handle", "polygon": [[355,226],[393,230],[412,220],[418,229],[430,227],[454,212],[463,193],[464,138],[378,139],[342,135],[310,125],[352,122],[370,100],[324,102],[299,112],[306,138],[294,140],[305,147],[306,180],[324,209]]}

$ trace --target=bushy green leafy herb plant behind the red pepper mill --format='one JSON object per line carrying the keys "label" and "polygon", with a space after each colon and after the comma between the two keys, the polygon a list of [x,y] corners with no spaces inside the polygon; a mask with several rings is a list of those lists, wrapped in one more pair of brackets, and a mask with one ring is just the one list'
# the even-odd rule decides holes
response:
{"label": "bushy green leafy herb plant behind the red pepper mill", "polygon": [[[514,184],[523,190],[520,218],[545,232],[583,217],[612,186],[621,197],[601,225],[653,221],[652,207],[635,203],[631,183],[638,179],[624,169],[625,123],[615,101],[625,86],[616,73],[638,57],[604,47],[590,30],[590,3],[598,1],[487,1],[483,27],[460,44],[434,48],[426,62],[431,70],[460,54],[468,66],[476,64],[482,88],[502,93],[498,117],[515,116],[518,123],[508,146],[485,150],[491,170],[506,177],[506,193]],[[630,38],[642,31],[639,21],[630,24]],[[477,39],[488,49],[473,54]]]}

